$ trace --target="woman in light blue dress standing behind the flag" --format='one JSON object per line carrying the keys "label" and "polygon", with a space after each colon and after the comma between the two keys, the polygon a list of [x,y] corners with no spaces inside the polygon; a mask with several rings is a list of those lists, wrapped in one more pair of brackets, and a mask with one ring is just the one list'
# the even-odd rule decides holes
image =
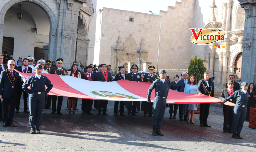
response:
{"label": "woman in light blue dress standing behind the flag", "polygon": [[[196,89],[197,89],[196,78],[193,75],[191,75],[188,79],[187,85],[185,86],[184,92],[197,94]],[[185,104],[184,113],[187,112],[187,116],[188,116],[187,123],[194,124],[193,116],[194,116],[194,111],[197,110],[197,107],[198,107],[198,104]],[[189,120],[190,113],[191,113],[191,119]]]}

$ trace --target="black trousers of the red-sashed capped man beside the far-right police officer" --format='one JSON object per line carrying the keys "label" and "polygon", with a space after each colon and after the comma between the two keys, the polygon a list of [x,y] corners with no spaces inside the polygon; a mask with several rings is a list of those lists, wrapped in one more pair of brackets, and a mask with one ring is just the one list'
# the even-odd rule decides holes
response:
{"label": "black trousers of the red-sashed capped man beside the far-right police officer", "polygon": [[[226,105],[223,105],[223,106],[226,106]],[[234,113],[234,107],[231,107],[231,106],[229,110],[223,110],[223,116],[224,116],[223,131],[232,132],[232,123],[233,123],[233,117],[234,117],[233,113]]]}

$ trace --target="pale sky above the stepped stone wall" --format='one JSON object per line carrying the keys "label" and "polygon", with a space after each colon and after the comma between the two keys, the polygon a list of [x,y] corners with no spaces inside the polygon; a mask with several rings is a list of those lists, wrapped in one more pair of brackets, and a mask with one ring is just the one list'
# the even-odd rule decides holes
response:
{"label": "pale sky above the stepped stone wall", "polygon": [[181,0],[97,0],[97,9],[107,7],[141,13],[152,10],[159,15],[160,10],[167,11],[168,6],[175,6],[175,1]]}

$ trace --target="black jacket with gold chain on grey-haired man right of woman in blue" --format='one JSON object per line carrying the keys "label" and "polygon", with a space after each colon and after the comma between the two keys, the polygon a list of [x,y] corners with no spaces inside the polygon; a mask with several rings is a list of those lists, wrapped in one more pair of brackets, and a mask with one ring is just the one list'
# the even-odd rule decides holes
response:
{"label": "black jacket with gold chain on grey-haired man right of woman in blue", "polygon": [[209,92],[211,92],[210,96],[214,97],[214,88],[213,88],[214,86],[210,79],[208,80],[208,84],[209,84],[209,87],[207,86],[205,79],[199,80],[197,90],[196,90],[197,94],[202,93],[202,94],[209,96],[209,93],[207,92],[207,91],[209,91]]}

